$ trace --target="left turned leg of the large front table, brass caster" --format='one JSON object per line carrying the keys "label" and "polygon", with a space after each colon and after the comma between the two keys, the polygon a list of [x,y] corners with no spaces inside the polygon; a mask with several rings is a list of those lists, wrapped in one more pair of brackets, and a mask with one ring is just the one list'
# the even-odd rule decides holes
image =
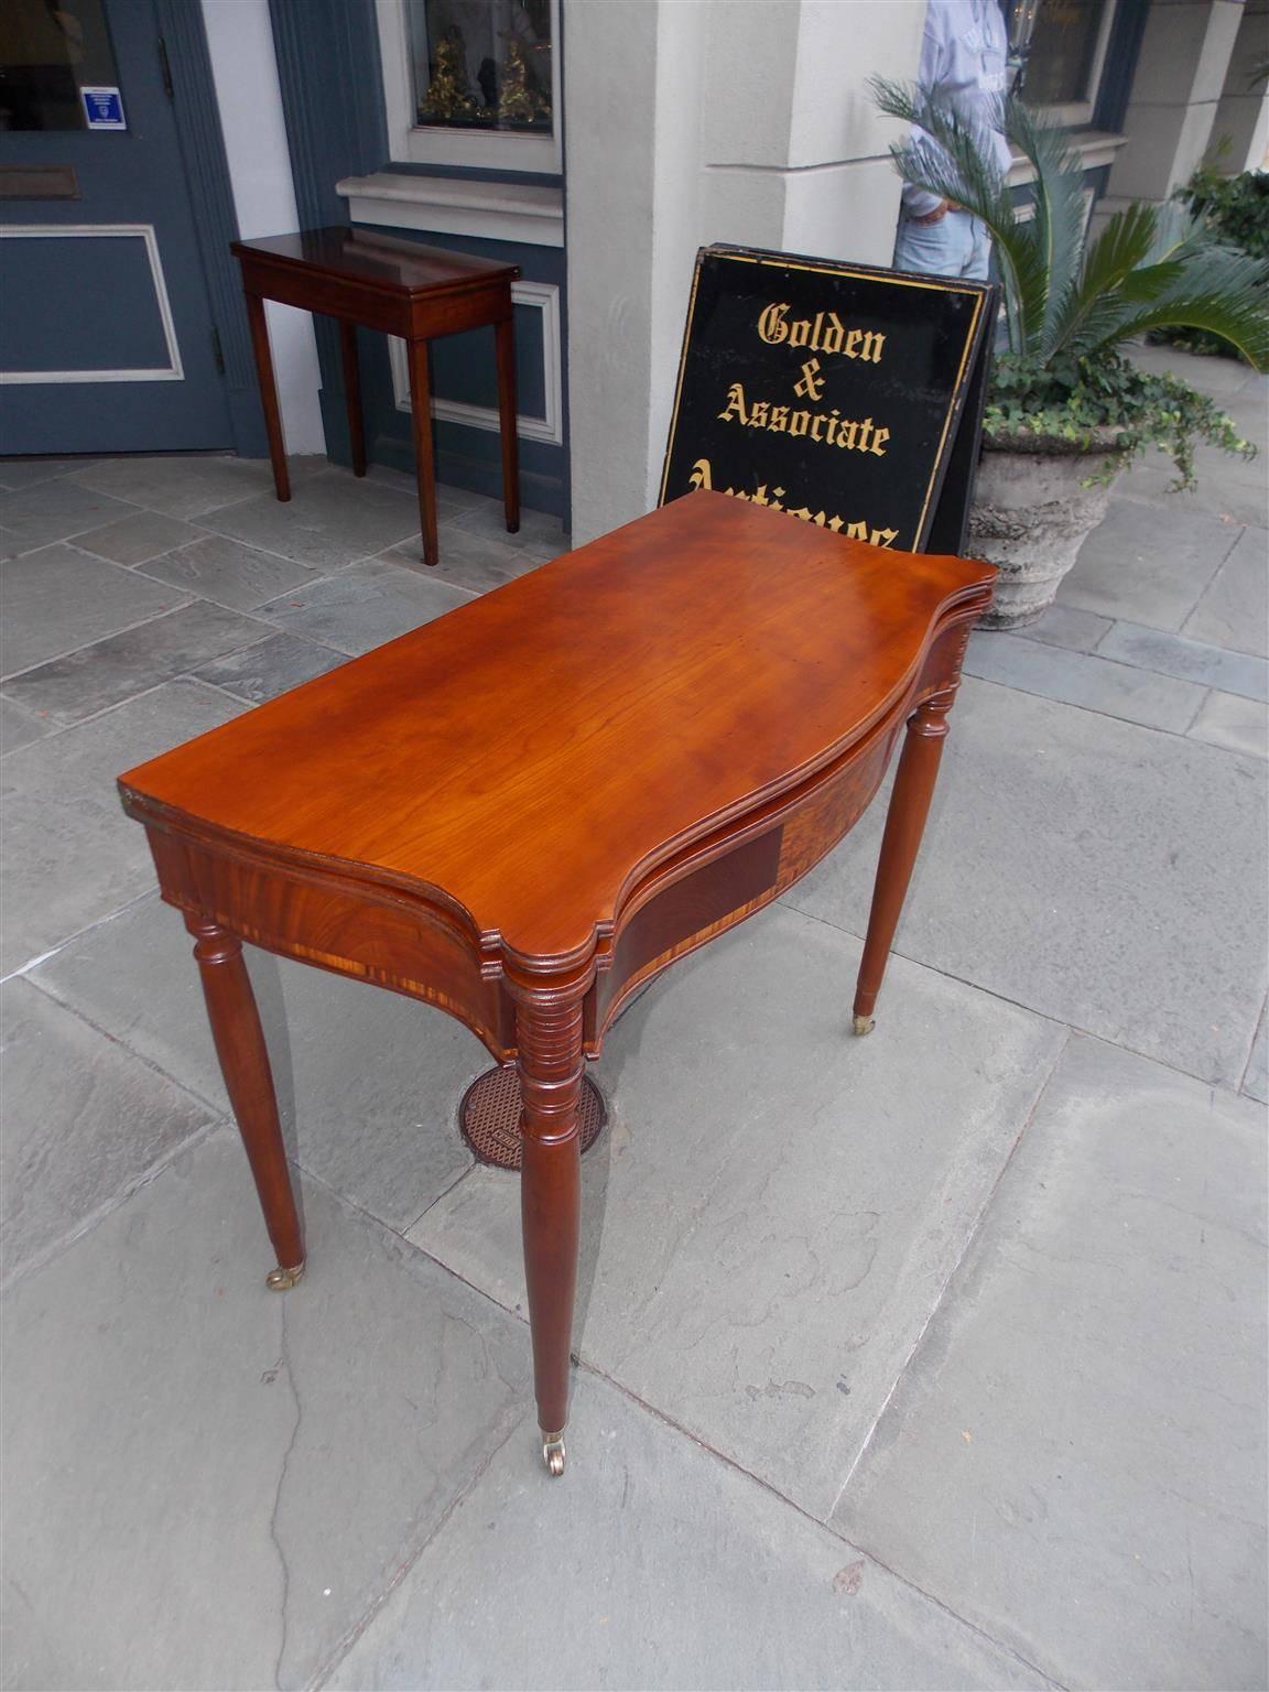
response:
{"label": "left turned leg of the large front table, brass caster", "polygon": [[220,924],[196,917],[188,917],[186,927],[195,936],[195,958],[203,976],[206,1014],[228,1101],[255,1178],[264,1225],[277,1252],[269,1286],[283,1291],[294,1286],[305,1272],[305,1239],[286,1166],[269,1051],[247,964],[242,961],[242,941]]}

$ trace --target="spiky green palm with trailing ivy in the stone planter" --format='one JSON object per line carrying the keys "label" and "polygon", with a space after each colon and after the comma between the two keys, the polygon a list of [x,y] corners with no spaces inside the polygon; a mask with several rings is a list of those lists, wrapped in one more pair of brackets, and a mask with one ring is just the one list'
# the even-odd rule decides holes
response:
{"label": "spiky green palm with trailing ivy in the stone planter", "polygon": [[1022,208],[953,108],[900,83],[876,78],[871,88],[883,112],[937,144],[890,149],[904,179],[964,206],[992,235],[1008,352],[993,377],[990,433],[1078,445],[1093,428],[1118,428],[1125,452],[1151,443],[1167,450],[1181,486],[1193,482],[1196,440],[1250,453],[1205,396],[1135,371],[1122,349],[1152,330],[1201,330],[1264,371],[1269,264],[1181,206],[1130,205],[1090,242],[1083,166],[1064,130],[1017,100],[1002,107],[1008,140],[1032,166],[1032,203]]}

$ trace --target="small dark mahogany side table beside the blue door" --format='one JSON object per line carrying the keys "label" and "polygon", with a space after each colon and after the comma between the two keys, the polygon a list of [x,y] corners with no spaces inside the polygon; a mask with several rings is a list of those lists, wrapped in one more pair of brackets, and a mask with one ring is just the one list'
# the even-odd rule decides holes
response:
{"label": "small dark mahogany side table beside the blue door", "polygon": [[367,235],[364,230],[342,227],[310,228],[298,235],[267,235],[262,240],[235,240],[230,250],[242,266],[242,288],[247,296],[277,497],[291,497],[291,477],[286,469],[283,418],[277,409],[277,384],[264,316],[266,299],[281,299],[288,306],[338,318],[354,475],[365,475],[357,325],[381,328],[404,340],[409,359],[409,404],[415,418],[425,563],[435,563],[438,558],[428,342],[437,335],[455,335],[459,330],[491,323],[497,357],[503,506],[506,526],[514,535],[519,528],[519,462],[511,284],[519,269],[514,264],[474,259],[465,252],[445,252],[413,240],[393,240],[387,235]]}

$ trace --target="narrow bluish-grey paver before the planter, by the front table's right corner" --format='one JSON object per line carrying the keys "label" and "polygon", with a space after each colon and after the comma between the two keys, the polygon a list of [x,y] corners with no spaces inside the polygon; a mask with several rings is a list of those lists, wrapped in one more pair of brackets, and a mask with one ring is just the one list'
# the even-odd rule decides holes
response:
{"label": "narrow bluish-grey paver before the planter, by the front table's right corner", "polygon": [[1203,689],[1193,682],[985,629],[970,640],[964,673],[1173,734],[1183,734],[1203,704]]}

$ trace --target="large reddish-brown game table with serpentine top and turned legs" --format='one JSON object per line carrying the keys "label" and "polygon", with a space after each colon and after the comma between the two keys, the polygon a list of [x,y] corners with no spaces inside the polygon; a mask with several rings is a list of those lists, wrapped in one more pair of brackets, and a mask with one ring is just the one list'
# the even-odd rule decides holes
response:
{"label": "large reddish-brown game table with serpentine top and turned legs", "polygon": [[871,1029],[993,574],[695,492],[124,775],[195,937],[269,1284],[296,1284],[305,1244],[244,941],[437,1005],[514,1064],[560,1474],[585,1061],[645,981],[846,834],[902,736],[854,997]]}

